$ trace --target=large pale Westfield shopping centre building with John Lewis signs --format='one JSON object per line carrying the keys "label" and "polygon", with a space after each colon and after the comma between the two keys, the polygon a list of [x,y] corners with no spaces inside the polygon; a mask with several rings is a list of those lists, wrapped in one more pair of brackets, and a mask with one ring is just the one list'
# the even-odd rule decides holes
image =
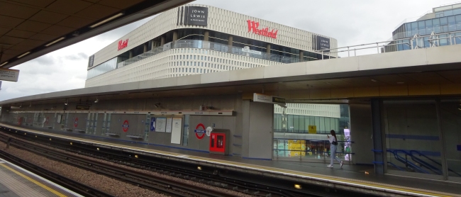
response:
{"label": "large pale Westfield shopping centre building with John Lewis signs", "polygon": [[[335,58],[337,41],[213,6],[153,18],[89,57],[86,87]],[[324,52],[318,52],[324,50]]]}

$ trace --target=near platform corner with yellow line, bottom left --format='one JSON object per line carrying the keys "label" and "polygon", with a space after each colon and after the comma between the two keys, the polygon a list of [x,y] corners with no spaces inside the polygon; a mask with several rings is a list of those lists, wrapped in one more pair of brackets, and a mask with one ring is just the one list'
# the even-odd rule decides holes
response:
{"label": "near platform corner with yellow line, bottom left", "polygon": [[0,158],[0,197],[81,196]]}

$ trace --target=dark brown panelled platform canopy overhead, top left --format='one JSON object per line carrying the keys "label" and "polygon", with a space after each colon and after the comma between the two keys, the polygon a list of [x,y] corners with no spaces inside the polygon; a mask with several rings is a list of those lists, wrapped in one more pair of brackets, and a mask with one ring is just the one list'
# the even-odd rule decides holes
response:
{"label": "dark brown panelled platform canopy overhead, top left", "polygon": [[0,1],[0,67],[14,67],[191,1]]}

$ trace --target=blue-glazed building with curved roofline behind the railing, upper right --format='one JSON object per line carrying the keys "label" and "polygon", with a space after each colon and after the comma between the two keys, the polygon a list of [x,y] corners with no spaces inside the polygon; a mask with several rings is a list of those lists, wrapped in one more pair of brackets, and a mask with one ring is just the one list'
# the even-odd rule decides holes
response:
{"label": "blue-glazed building with curved roofline behind the railing, upper right", "polygon": [[386,52],[461,44],[461,4],[433,8],[416,21],[402,23],[392,40]]}

